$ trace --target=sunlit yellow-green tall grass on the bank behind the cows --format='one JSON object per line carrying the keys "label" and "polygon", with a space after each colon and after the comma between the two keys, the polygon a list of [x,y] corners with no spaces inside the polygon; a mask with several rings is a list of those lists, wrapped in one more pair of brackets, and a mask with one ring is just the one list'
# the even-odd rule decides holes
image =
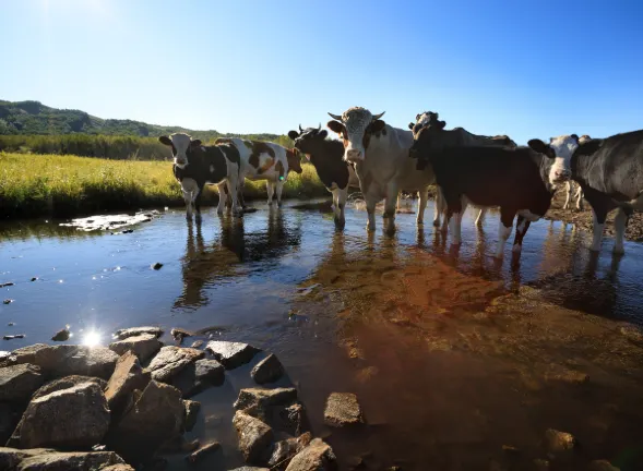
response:
{"label": "sunlit yellow-green tall grass on the bank behind the cows", "polygon": [[[310,164],[290,173],[284,197],[326,196]],[[266,197],[265,182],[246,183],[246,200]],[[204,205],[217,202],[206,190]],[[0,218],[72,217],[111,210],[181,206],[168,161],[106,160],[71,155],[0,153]]]}

